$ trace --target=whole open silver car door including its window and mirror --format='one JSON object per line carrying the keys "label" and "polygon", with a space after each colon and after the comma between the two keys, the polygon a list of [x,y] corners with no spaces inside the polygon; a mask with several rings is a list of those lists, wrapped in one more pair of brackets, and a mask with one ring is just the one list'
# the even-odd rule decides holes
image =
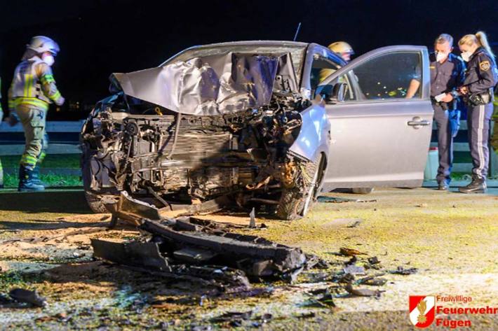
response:
{"label": "whole open silver car door including its window and mirror", "polygon": [[[330,150],[323,190],[422,185],[433,108],[423,46],[372,50],[325,78]],[[419,83],[406,99],[410,83]]]}

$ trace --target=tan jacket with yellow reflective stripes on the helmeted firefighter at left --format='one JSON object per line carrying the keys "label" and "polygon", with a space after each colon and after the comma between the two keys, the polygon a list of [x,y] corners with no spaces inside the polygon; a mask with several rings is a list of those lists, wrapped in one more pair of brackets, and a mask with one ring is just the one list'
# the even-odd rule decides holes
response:
{"label": "tan jacket with yellow reflective stripes on the helmeted firefighter at left", "polygon": [[9,90],[9,108],[13,109],[19,104],[29,104],[48,109],[48,104],[53,101],[58,103],[61,97],[51,67],[39,57],[34,56],[24,60],[15,68]]}

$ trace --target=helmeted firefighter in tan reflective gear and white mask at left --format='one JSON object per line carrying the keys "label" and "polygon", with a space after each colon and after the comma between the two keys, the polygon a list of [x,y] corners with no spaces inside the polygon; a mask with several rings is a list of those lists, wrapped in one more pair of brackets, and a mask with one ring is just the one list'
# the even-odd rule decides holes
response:
{"label": "helmeted firefighter in tan reflective gear and white mask at left", "polygon": [[9,90],[11,115],[18,116],[26,139],[19,169],[20,192],[45,189],[38,173],[47,146],[46,113],[49,104],[64,104],[64,98],[55,85],[51,69],[58,52],[59,45],[51,38],[34,36],[27,45],[22,61],[15,68]]}

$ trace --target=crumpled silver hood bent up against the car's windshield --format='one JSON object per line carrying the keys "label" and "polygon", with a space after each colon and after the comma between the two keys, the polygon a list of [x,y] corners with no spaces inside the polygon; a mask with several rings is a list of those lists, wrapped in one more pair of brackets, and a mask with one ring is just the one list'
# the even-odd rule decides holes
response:
{"label": "crumpled silver hood bent up against the car's windshield", "polygon": [[113,73],[124,94],[190,115],[219,115],[269,104],[274,91],[297,92],[288,53],[228,52],[131,73]]}

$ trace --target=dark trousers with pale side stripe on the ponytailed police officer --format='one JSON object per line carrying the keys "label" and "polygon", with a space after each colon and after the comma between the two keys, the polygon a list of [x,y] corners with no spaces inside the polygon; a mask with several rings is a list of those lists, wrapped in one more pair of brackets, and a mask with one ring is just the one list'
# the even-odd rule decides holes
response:
{"label": "dark trousers with pale side stripe on the ponytailed police officer", "polygon": [[472,174],[485,178],[490,162],[490,120],[493,104],[467,106],[467,129],[472,157]]}

